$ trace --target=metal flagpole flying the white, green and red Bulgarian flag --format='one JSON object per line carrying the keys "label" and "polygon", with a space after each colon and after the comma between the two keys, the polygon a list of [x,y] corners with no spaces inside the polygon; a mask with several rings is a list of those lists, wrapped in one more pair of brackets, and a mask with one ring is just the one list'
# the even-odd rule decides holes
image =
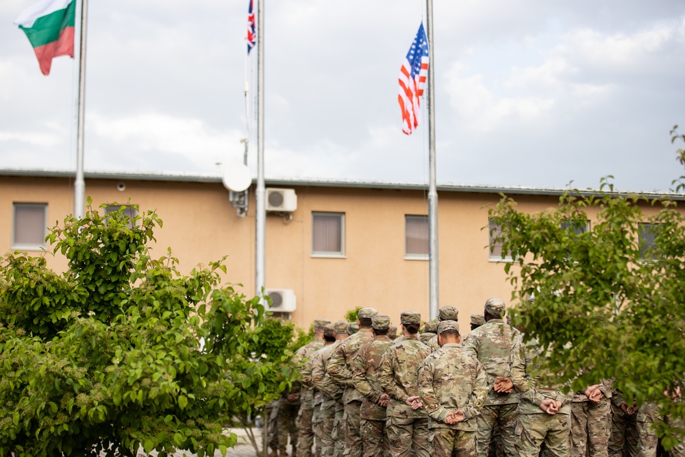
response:
{"label": "metal flagpole flying the white, green and red Bulgarian flag", "polygon": [[74,217],[84,217],[86,206],[86,180],[84,179],[84,114],[86,105],[86,24],[88,22],[88,0],[81,0],[79,8],[79,92],[76,138],[76,179],[74,181]]}

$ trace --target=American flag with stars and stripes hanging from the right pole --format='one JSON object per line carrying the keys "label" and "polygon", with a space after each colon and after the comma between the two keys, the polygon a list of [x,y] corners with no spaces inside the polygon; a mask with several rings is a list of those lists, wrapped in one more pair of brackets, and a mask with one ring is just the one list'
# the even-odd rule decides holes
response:
{"label": "American flag with stars and stripes hanging from the right pole", "polygon": [[402,132],[411,135],[419,127],[421,102],[428,77],[428,38],[423,23],[409,48],[402,68],[399,70],[399,107],[402,109]]}

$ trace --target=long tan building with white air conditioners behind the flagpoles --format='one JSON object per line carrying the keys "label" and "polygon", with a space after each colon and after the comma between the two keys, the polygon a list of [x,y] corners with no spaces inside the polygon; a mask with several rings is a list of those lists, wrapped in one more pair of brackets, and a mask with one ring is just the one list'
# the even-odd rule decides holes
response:
{"label": "long tan building with white air conditioners behind the flagpoles", "polygon": [[[292,310],[293,321],[306,328],[316,317],[341,319],[356,306],[377,308],[395,324],[403,310],[418,310],[427,320],[425,186],[266,180],[266,188],[273,210],[266,217],[266,288],[282,297],[279,309]],[[557,206],[562,190],[438,186],[439,301],[459,309],[462,332],[488,297],[511,297],[501,257],[489,249],[487,206],[500,192],[515,197],[521,210],[536,212]],[[86,173],[86,195],[94,208],[118,203],[155,210],[164,227],[155,232],[153,256],[171,247],[184,273],[228,256],[227,282],[254,295],[253,188],[245,217],[220,177]],[[66,259],[42,252],[51,251],[42,240],[46,226],[61,224],[71,212],[73,174],[0,171],[0,251],[44,255],[49,267],[62,271]]]}

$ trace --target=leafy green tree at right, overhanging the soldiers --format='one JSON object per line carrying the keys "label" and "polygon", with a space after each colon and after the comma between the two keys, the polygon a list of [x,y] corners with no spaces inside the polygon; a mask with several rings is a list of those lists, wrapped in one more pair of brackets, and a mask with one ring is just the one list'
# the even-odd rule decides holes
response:
{"label": "leafy green tree at right, overhanging the soldiers", "polygon": [[[683,432],[671,419],[685,418],[685,402],[664,395],[685,393],[685,218],[675,199],[616,193],[609,178],[599,192],[564,193],[557,208],[525,214],[503,195],[489,213],[514,258],[505,264],[514,322],[553,354],[541,373],[574,391],[615,379],[627,404],[656,402],[669,416],[657,432],[675,445]],[[592,230],[578,230],[589,214]]]}

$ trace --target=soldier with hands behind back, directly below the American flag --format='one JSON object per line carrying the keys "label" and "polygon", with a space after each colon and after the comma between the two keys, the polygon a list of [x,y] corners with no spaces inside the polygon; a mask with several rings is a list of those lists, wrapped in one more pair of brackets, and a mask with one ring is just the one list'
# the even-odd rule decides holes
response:
{"label": "soldier with hands behind back, directly below the American flag", "polygon": [[406,311],[401,314],[404,336],[399,343],[388,347],[379,367],[378,382],[388,399],[386,433],[392,457],[428,457],[428,415],[419,399],[416,384],[421,362],[430,349],[416,335],[421,325],[421,314]]}

